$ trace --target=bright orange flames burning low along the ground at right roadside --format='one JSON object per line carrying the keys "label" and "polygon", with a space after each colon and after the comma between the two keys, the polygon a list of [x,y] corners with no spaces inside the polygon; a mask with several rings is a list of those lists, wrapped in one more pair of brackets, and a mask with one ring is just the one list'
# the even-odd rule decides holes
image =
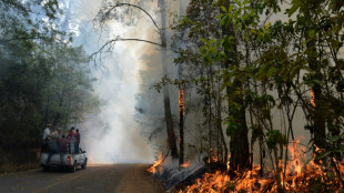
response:
{"label": "bright orange flames burning low along the ground at right roadside", "polygon": [[[299,141],[293,141],[289,146],[291,156],[286,164],[280,163],[282,172],[281,186],[285,192],[340,192],[343,190],[341,177],[344,176],[344,165],[333,159],[341,176],[330,167],[330,164],[323,164],[320,161],[315,164],[314,161],[306,160],[305,146]],[[162,154],[159,154],[159,160],[148,171],[155,173],[159,169],[160,173],[163,169]],[[184,165],[184,166],[189,166]],[[327,165],[327,166],[326,166]],[[236,173],[235,177],[230,177],[227,172],[216,171],[214,173],[205,173],[201,179],[198,179],[192,185],[179,190],[179,193],[209,193],[209,192],[277,192],[277,181],[274,171],[265,169],[265,174],[260,174],[260,166],[254,165],[253,170],[243,173]]]}

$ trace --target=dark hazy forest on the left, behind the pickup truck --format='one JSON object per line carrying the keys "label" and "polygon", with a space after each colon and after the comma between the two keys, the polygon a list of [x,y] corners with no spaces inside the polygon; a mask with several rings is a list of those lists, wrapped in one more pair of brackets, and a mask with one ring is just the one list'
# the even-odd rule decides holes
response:
{"label": "dark hazy forest on the left, behind the pickup truck", "polygon": [[100,102],[89,55],[59,27],[57,0],[3,0],[0,9],[0,165],[6,170],[36,163],[47,124],[67,131]]}

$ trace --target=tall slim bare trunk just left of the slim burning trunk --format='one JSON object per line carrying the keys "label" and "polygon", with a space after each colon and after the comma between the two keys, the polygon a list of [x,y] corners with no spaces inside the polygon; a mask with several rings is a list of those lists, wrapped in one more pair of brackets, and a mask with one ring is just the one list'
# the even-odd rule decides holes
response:
{"label": "tall slim bare trunk just left of the slim burning trunk", "polygon": [[[162,73],[163,75],[168,75],[168,65],[166,65],[166,19],[165,19],[165,1],[160,0],[161,6],[161,43],[162,43],[162,50],[161,50],[161,60],[162,60]],[[165,85],[163,88],[163,104],[164,104],[164,111],[165,111],[165,120],[166,120],[166,129],[168,129],[168,143],[169,148],[171,150],[172,158],[178,158],[178,150],[176,150],[176,143],[175,143],[175,134],[173,129],[173,121],[172,121],[172,114],[171,114],[171,104],[170,104],[170,92],[169,87]]]}

